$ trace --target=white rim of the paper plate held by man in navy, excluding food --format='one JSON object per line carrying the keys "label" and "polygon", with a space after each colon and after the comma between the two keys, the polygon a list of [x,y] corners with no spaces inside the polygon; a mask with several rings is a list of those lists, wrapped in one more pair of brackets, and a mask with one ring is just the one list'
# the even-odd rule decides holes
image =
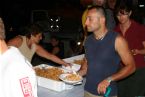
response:
{"label": "white rim of the paper plate held by man in navy, excluding food", "polygon": [[75,81],[67,80],[66,77],[67,77],[68,75],[71,75],[71,74],[70,74],[70,73],[61,74],[61,75],[59,76],[59,78],[60,78],[62,81],[68,83],[68,84],[76,84],[76,83],[78,83],[78,82],[82,82],[82,80],[83,80],[83,78],[82,78],[80,75],[77,75],[77,76],[80,77],[79,80],[75,80]]}

